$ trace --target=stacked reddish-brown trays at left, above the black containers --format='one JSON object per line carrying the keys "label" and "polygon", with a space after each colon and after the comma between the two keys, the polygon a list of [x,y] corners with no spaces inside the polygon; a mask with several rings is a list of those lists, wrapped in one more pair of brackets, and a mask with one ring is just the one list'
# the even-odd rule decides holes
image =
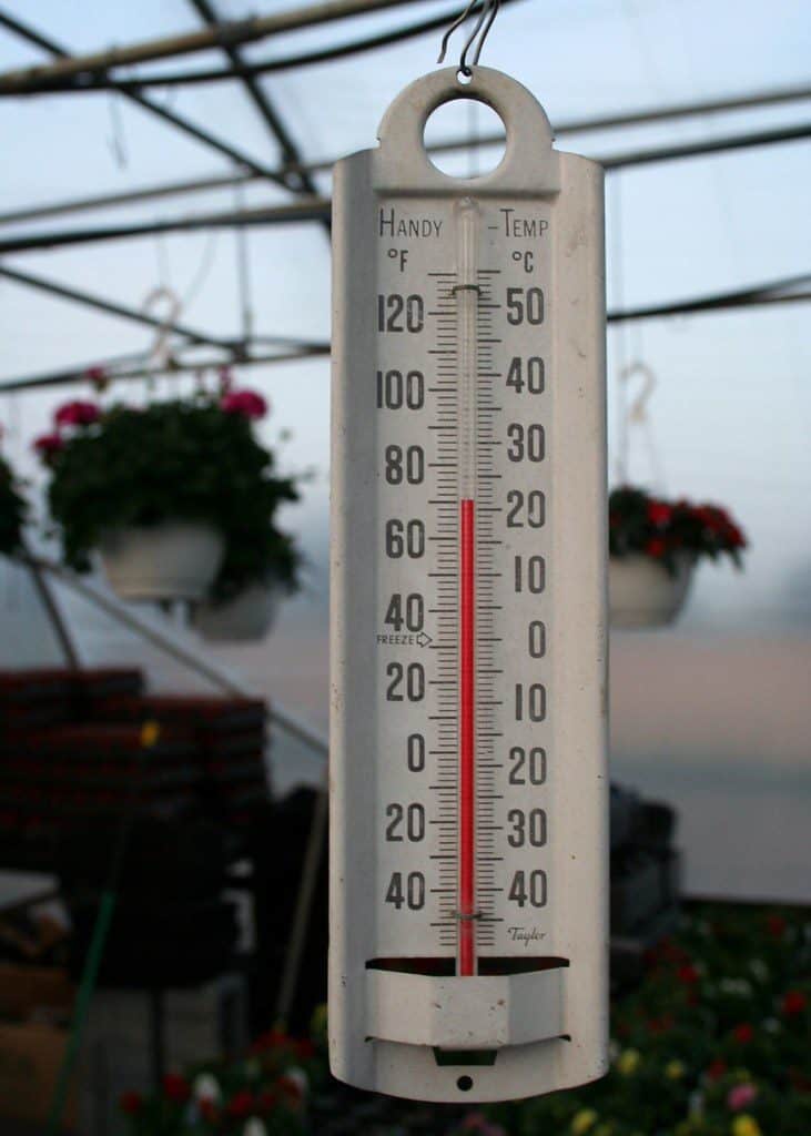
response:
{"label": "stacked reddish-brown trays at left, above the black containers", "polygon": [[240,824],[267,797],[266,718],[259,700],[145,695],[137,670],[0,673],[0,832],[133,811]]}

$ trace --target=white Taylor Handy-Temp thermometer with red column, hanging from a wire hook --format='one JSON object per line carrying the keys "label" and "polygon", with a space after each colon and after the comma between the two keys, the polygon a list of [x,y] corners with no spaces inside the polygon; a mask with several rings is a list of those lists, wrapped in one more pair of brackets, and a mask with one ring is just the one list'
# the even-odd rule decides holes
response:
{"label": "white Taylor Handy-Temp thermometer with red column, hanging from a wire hook", "polygon": [[[466,97],[492,174],[423,145]],[[419,80],[335,174],[333,1072],[435,1101],[607,1047],[602,172],[518,83]]]}

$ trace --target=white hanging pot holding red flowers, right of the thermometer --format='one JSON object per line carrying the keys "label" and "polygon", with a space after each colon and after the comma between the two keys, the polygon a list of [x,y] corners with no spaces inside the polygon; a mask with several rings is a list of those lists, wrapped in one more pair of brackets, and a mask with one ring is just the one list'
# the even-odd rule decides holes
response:
{"label": "white hanging pot holding red flowers, right of the thermometer", "polygon": [[676,558],[676,573],[635,552],[609,557],[609,617],[614,628],[667,627],[684,607],[695,557]]}

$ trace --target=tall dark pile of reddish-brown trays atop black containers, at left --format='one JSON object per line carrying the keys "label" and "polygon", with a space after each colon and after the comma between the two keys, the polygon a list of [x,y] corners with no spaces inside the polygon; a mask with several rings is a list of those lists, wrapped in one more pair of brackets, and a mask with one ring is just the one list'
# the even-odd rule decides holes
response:
{"label": "tall dark pile of reddish-brown trays atop black containers, at left", "polygon": [[224,889],[269,807],[266,743],[260,700],[150,695],[132,669],[0,673],[0,864],[58,874],[76,974],[111,885],[102,985],[234,968]]}

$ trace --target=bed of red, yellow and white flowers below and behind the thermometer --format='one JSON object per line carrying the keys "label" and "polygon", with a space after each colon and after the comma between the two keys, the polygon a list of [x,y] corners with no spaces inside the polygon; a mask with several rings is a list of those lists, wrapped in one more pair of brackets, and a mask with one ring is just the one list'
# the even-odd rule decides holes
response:
{"label": "bed of red, yellow and white flowers below and behind the thermometer", "polygon": [[122,1102],[137,1136],[808,1136],[811,917],[695,904],[612,1008],[612,1064],[582,1089],[475,1109],[358,1093],[281,1034]]}

